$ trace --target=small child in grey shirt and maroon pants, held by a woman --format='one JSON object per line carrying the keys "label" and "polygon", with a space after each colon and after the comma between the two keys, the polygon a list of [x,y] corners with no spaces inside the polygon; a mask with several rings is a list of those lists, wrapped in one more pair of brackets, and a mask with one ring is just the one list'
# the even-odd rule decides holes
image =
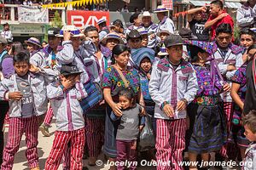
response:
{"label": "small child in grey shirt and maroon pants, held by a woman", "polygon": [[[143,120],[140,120],[141,113],[140,105],[134,103],[134,93],[132,89],[124,88],[119,91],[119,103],[122,108],[122,116],[114,115],[113,111],[110,115],[113,121],[120,121],[116,134],[116,148],[118,170],[125,169],[121,162],[130,161],[130,169],[136,169],[136,149],[137,138],[140,129],[143,128]],[[141,125],[140,125],[141,124]]]}

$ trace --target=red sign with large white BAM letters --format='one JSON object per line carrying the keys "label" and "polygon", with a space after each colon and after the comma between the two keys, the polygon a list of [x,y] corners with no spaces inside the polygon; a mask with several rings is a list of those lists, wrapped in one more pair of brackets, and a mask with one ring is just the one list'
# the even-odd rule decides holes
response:
{"label": "red sign with large white BAM letters", "polygon": [[74,25],[79,28],[86,26],[97,26],[97,21],[107,20],[109,25],[109,13],[100,11],[83,11],[83,10],[68,10],[67,11],[67,25]]}

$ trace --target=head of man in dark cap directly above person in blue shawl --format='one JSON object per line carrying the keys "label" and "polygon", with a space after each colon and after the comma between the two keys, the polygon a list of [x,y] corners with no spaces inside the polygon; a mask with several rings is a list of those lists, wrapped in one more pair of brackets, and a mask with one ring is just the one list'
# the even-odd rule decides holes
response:
{"label": "head of man in dark cap directly above person in blue shawl", "polygon": [[137,49],[142,47],[142,37],[137,30],[131,30],[127,35],[128,46],[131,49]]}

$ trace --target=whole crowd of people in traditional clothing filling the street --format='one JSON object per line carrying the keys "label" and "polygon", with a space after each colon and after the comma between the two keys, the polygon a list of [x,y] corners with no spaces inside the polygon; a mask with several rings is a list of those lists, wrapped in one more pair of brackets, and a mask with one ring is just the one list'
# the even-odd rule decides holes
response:
{"label": "whole crowd of people in traditional clothing filling the street", "polygon": [[[154,10],[159,23],[143,11],[131,15],[128,28],[121,20],[110,26],[99,20],[99,29],[53,27],[44,47],[31,37],[26,50],[20,42],[8,45],[6,28],[0,37],[0,129],[5,120],[9,132],[5,147],[0,133],[1,169],[12,169],[25,133],[28,166],[38,170],[38,129],[49,137],[53,117],[46,170],[61,161],[63,169],[83,169],[86,152],[89,166],[102,152],[118,162],[111,170],[125,169],[125,161],[136,169],[141,159],[157,162],[159,170],[183,169],[184,152],[190,162],[198,156],[208,162],[215,153],[215,161],[243,161],[242,168],[255,169],[255,3],[238,9],[237,23],[220,0],[189,9],[189,28],[178,32],[160,5]],[[153,141],[143,143],[143,131]],[[198,168],[209,165],[189,165]]]}

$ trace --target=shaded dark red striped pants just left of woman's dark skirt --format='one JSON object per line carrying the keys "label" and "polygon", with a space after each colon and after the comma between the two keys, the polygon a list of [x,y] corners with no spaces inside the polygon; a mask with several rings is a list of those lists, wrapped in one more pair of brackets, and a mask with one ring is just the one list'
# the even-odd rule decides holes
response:
{"label": "shaded dark red striped pants just left of woman's dark skirt", "polygon": [[86,143],[90,157],[97,157],[102,151],[104,142],[104,119],[85,118],[86,121]]}

